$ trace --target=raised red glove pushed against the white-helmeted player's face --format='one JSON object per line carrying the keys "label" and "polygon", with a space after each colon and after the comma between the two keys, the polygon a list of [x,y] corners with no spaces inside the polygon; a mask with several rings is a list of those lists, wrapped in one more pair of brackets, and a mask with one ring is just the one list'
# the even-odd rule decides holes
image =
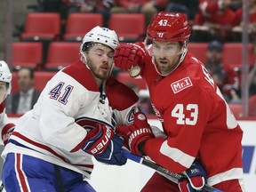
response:
{"label": "raised red glove pushed against the white-helmeted player's face", "polygon": [[126,70],[134,66],[141,67],[145,60],[145,51],[137,44],[120,44],[115,52],[115,66]]}

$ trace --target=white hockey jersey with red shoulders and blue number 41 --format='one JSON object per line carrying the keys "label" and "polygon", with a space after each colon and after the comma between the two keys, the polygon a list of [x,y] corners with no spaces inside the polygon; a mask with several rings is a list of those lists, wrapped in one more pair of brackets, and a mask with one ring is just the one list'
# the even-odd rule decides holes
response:
{"label": "white hockey jersey with red shoulders and blue number 41", "polygon": [[16,124],[2,154],[20,153],[58,164],[90,178],[92,155],[81,148],[95,124],[131,124],[138,96],[109,77],[98,88],[81,61],[60,70],[46,84],[36,105]]}

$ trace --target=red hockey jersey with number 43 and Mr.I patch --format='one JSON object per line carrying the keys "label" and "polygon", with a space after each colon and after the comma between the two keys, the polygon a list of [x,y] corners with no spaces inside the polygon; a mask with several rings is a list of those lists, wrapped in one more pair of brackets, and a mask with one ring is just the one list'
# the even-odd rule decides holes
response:
{"label": "red hockey jersey with number 43 and Mr.I patch", "polygon": [[184,172],[198,157],[210,185],[242,179],[243,131],[204,65],[187,53],[164,77],[147,52],[141,76],[167,135],[147,140],[143,152],[171,172]]}

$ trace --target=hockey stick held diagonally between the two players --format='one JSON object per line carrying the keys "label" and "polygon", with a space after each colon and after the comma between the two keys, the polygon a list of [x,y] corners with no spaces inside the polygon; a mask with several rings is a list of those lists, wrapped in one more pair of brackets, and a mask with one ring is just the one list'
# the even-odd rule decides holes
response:
{"label": "hockey stick held diagonally between the two players", "polygon": [[[150,161],[150,160],[146,159],[145,157],[135,156],[134,154],[132,154],[130,151],[128,151],[126,149],[123,149],[123,155],[126,158],[128,158],[134,162],[143,164],[145,166],[148,166],[148,167],[156,170],[156,172],[160,173],[161,175],[163,175],[164,177],[166,177],[169,180],[172,180],[175,183],[178,183],[178,180],[188,180],[188,177],[185,174],[182,174],[182,173],[178,174],[178,173],[170,172],[169,170],[165,169],[161,165],[156,164],[155,162]],[[205,184],[202,192],[223,192],[223,191]]]}

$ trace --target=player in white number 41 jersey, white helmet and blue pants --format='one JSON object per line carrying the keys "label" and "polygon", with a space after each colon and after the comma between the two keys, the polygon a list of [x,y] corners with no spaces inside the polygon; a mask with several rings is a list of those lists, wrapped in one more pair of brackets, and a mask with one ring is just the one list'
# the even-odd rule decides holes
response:
{"label": "player in white number 41 jersey, white helmet and blue pants", "polygon": [[91,192],[92,156],[104,164],[126,163],[115,126],[132,123],[139,98],[110,76],[118,44],[115,31],[92,28],[81,60],[53,76],[20,117],[2,154],[6,191]]}

